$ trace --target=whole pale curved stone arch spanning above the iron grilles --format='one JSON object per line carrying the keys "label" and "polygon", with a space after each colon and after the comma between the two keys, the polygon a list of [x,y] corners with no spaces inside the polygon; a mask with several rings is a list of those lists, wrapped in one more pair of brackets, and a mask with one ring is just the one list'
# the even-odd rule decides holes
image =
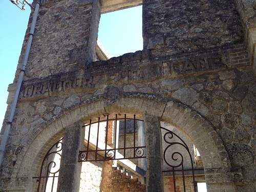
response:
{"label": "whole pale curved stone arch spanning above the iron grilles", "polygon": [[[30,191],[31,178],[38,173],[44,158],[42,154],[46,154],[52,144],[63,135],[65,127],[106,113],[138,114],[142,117],[144,112],[175,125],[191,139],[201,154],[206,181],[232,182],[228,175],[231,164],[222,140],[211,123],[197,111],[178,101],[157,95],[119,93],[118,91],[115,94],[103,94],[84,100],[42,125],[36,135],[31,135],[31,142],[28,143],[27,150],[23,151],[24,158],[17,161],[15,165],[18,169],[17,176],[26,175],[25,177],[29,178],[26,189]],[[216,173],[209,172],[208,174],[207,169],[214,169]],[[221,178],[219,178],[220,175]],[[209,179],[207,179],[208,176]]]}

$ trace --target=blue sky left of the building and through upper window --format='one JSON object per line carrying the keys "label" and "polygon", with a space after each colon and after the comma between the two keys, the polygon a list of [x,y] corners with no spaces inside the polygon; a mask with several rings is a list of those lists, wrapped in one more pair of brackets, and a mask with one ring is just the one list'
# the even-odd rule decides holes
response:
{"label": "blue sky left of the building and through upper window", "polygon": [[[0,11],[0,122],[2,124],[8,96],[8,84],[13,82],[30,14],[29,6],[19,10],[8,0]],[[102,14],[99,37],[103,47],[113,56],[142,50],[142,7]]]}

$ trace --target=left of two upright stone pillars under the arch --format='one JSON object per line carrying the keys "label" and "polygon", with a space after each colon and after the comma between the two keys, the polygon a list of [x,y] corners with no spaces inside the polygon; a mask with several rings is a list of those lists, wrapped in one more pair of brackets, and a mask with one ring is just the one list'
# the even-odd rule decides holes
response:
{"label": "left of two upright stone pillars under the arch", "polygon": [[80,185],[81,162],[79,151],[84,142],[84,128],[77,122],[66,128],[60,161],[57,192],[78,192]]}

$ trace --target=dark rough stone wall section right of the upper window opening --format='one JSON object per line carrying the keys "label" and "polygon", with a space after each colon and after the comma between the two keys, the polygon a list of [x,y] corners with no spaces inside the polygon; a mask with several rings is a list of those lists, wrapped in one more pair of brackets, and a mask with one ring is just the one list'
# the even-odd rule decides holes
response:
{"label": "dark rough stone wall section right of the upper window opening", "polygon": [[242,41],[242,26],[233,1],[177,0],[143,3],[144,49],[170,54]]}

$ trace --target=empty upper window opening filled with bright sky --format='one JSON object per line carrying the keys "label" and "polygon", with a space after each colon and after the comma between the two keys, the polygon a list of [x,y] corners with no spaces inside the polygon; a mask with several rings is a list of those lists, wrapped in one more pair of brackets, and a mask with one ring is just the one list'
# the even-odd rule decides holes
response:
{"label": "empty upper window opening filled with bright sky", "polygon": [[142,6],[102,14],[98,41],[110,57],[142,50]]}

